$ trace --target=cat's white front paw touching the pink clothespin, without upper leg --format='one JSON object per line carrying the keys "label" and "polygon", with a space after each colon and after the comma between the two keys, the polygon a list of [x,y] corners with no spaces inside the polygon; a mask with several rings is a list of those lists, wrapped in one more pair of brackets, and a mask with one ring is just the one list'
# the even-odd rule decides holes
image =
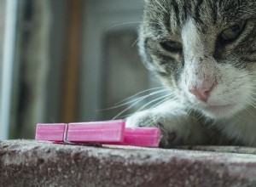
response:
{"label": "cat's white front paw touching the pink clothespin, without upper leg", "polygon": [[160,147],[188,144],[189,127],[182,116],[158,111],[142,111],[126,120],[127,127],[159,127]]}

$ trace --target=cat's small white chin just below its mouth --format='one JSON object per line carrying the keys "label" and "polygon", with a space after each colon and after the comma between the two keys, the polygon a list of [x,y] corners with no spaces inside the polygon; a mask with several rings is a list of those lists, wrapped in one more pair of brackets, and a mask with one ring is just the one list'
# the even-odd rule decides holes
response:
{"label": "cat's small white chin just below its mouth", "polygon": [[207,105],[201,108],[201,112],[205,114],[205,116],[210,117],[212,119],[220,119],[234,116],[236,112],[241,109],[237,107],[235,104],[228,105]]}

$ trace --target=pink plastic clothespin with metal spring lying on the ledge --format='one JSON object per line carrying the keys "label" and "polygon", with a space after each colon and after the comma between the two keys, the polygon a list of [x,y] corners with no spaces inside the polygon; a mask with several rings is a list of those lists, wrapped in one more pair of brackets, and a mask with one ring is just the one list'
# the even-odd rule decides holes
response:
{"label": "pink plastic clothespin with metal spring lying on the ledge", "polygon": [[160,129],[125,127],[124,120],[37,124],[36,138],[64,143],[124,144],[158,147]]}

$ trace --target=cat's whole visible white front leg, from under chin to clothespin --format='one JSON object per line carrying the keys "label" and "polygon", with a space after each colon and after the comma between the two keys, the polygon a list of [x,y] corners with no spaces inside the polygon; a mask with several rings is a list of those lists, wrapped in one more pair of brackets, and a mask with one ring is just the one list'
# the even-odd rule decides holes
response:
{"label": "cat's whole visible white front leg, from under chin to clothespin", "polygon": [[206,144],[207,134],[194,112],[176,101],[137,112],[126,120],[128,127],[160,127],[160,147],[173,144]]}

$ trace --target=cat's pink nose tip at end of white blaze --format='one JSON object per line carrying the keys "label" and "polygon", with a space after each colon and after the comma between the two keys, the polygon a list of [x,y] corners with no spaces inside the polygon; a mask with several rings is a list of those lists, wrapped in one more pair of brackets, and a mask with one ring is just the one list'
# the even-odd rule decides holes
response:
{"label": "cat's pink nose tip at end of white blaze", "polygon": [[211,91],[212,91],[212,85],[208,87],[202,87],[202,88],[196,88],[196,87],[189,88],[189,92],[191,94],[194,94],[197,99],[200,99],[203,102],[207,102]]}

